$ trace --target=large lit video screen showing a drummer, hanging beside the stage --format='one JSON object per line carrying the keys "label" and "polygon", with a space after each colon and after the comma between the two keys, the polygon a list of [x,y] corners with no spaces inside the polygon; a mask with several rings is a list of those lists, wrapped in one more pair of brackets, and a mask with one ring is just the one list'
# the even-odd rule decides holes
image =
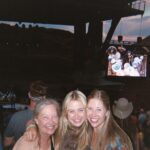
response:
{"label": "large lit video screen showing a drummer, hanging beside the stage", "polygon": [[115,46],[107,49],[107,76],[146,77],[147,55]]}

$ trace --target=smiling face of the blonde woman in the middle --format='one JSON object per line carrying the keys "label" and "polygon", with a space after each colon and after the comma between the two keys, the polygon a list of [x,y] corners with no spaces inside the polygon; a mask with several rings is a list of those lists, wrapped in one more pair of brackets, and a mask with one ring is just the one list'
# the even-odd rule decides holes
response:
{"label": "smiling face of the blonde woman in the middle", "polygon": [[67,106],[67,116],[74,127],[80,127],[86,120],[85,106],[79,100],[71,100]]}

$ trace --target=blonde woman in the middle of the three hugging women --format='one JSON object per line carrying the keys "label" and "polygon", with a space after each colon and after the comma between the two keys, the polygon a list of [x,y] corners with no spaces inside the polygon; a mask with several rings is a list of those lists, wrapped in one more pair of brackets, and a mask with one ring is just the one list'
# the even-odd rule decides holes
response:
{"label": "blonde woman in the middle of the three hugging women", "polygon": [[79,90],[69,92],[63,102],[55,147],[57,150],[88,148],[86,96]]}

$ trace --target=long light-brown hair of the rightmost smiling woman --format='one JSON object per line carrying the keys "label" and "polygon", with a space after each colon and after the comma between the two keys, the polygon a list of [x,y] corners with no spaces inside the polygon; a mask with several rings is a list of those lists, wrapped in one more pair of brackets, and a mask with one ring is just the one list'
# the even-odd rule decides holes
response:
{"label": "long light-brown hair of the rightmost smiling woman", "polygon": [[[107,93],[103,90],[94,90],[88,96],[88,101],[90,99],[96,98],[102,101],[104,107],[107,110],[106,119],[102,128],[98,131],[98,142],[95,150],[107,150],[108,147],[111,147],[111,150],[117,149],[118,145],[116,140],[119,139],[119,142],[128,150],[132,150],[132,144],[127,136],[127,134],[120,128],[120,126],[114,120],[111,110],[110,110],[110,99]],[[90,133],[92,134],[92,133]],[[91,136],[92,137],[92,136]]]}

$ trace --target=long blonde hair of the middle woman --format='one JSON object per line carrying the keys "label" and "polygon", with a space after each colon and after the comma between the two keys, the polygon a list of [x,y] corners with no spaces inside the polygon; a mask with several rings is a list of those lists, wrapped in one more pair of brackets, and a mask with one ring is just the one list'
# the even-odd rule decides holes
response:
{"label": "long blonde hair of the middle woman", "polygon": [[[67,107],[71,101],[80,101],[82,102],[84,108],[86,109],[87,100],[86,96],[79,90],[69,92],[63,102],[62,106],[62,115],[60,117],[60,125],[58,129],[58,133],[56,136],[56,149],[60,150],[61,144],[65,141],[64,136],[71,131],[74,130],[74,127],[70,124],[67,119]],[[77,141],[77,150],[84,150],[88,143],[88,135],[87,135],[87,121],[85,121],[81,127],[75,128],[75,134],[78,134]],[[61,148],[60,148],[61,147]],[[61,149],[62,150],[62,149]]]}

